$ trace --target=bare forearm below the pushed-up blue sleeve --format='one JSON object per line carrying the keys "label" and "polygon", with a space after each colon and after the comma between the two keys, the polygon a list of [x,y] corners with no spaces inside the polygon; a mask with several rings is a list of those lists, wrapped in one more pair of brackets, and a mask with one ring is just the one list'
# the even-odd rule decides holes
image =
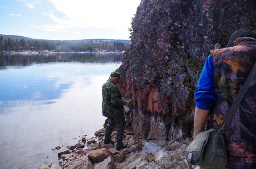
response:
{"label": "bare forearm below the pushed-up blue sleeve", "polygon": [[208,114],[209,114],[209,110],[203,110],[203,109],[195,107],[193,139],[195,139],[195,136],[198,133],[200,133],[204,130],[204,124],[206,122]]}

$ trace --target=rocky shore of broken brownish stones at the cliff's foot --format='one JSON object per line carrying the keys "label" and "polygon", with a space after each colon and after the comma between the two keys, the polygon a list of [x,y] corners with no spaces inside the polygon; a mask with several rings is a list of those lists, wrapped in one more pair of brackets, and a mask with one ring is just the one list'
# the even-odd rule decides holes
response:
{"label": "rocky shore of broken brownish stones at the cliff's foot", "polygon": [[[144,140],[128,127],[123,140],[128,146],[118,151],[116,142],[103,144],[104,135],[104,128],[95,133],[96,137],[86,138],[83,135],[77,144],[68,145],[68,150],[58,153],[59,165],[42,165],[40,169],[189,169],[184,154],[192,138]],[[115,138],[114,131],[112,140],[116,141]]]}

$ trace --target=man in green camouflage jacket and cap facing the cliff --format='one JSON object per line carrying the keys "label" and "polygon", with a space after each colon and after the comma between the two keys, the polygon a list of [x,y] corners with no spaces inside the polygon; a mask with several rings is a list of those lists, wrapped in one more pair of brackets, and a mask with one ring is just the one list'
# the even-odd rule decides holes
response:
{"label": "man in green camouflage jacket and cap facing the cliff", "polygon": [[104,144],[114,143],[111,140],[112,128],[117,125],[116,131],[116,148],[121,149],[127,146],[127,143],[122,143],[125,117],[123,106],[128,106],[129,101],[122,99],[122,94],[116,84],[121,79],[119,72],[111,72],[110,78],[102,86],[102,115],[108,118],[108,124],[105,131]]}

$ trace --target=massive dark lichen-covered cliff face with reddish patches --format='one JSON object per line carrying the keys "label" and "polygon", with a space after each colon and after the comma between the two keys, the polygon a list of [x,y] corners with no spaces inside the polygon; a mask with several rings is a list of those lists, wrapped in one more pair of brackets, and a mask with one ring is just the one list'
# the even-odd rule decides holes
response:
{"label": "massive dark lichen-covered cliff face with reddish patches", "polygon": [[233,31],[256,33],[255,0],[141,0],[131,45],[117,71],[120,91],[140,112],[126,108],[127,124],[144,138],[192,135],[194,91],[209,50],[223,48]]}

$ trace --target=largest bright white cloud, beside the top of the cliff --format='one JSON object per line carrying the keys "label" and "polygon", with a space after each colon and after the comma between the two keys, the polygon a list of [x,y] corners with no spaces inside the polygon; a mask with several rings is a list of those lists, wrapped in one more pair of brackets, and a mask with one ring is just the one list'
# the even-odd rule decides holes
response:
{"label": "largest bright white cloud, beside the top of the cliff", "polygon": [[77,29],[91,27],[128,32],[131,17],[136,13],[139,2],[140,0],[48,0],[47,3],[56,11],[45,10],[42,14],[49,17],[54,24],[30,26],[54,32],[76,32]]}

